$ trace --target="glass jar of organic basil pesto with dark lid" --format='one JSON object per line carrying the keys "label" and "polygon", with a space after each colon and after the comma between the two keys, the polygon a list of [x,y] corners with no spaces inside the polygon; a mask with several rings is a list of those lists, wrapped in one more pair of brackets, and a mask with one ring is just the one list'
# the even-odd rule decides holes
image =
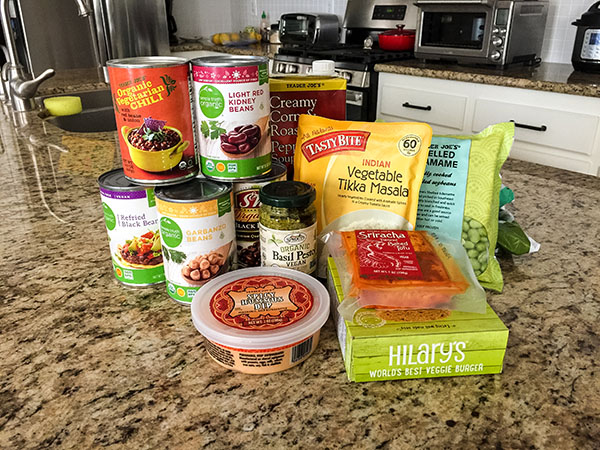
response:
{"label": "glass jar of organic basil pesto with dark lid", "polygon": [[277,181],[263,186],[259,197],[262,265],[314,273],[317,268],[315,189],[300,181]]}

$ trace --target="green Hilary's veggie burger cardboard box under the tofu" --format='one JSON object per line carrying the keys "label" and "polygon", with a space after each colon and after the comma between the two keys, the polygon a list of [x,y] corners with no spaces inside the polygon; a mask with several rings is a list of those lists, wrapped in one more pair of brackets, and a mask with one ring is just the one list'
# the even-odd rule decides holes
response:
{"label": "green Hilary's veggie burger cardboard box under the tofu", "polygon": [[343,299],[335,262],[328,287],[338,340],[350,381],[482,375],[502,372],[508,328],[487,305],[485,314],[452,311],[429,322],[386,322],[359,311],[361,324],[337,313]]}

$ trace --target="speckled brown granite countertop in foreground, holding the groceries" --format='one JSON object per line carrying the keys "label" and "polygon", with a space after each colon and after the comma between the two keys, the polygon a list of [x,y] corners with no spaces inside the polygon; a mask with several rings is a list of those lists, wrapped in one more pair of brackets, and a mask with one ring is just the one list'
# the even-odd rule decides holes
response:
{"label": "speckled brown granite countertop in foreground, holding the groceries", "polygon": [[[250,376],[208,356],[164,286],[114,279],[96,184],[115,133],[0,110],[0,448],[561,448],[600,441],[600,179],[509,160],[541,251],[503,256],[504,373],[347,381],[315,353]],[[596,444],[594,444],[594,442]]]}

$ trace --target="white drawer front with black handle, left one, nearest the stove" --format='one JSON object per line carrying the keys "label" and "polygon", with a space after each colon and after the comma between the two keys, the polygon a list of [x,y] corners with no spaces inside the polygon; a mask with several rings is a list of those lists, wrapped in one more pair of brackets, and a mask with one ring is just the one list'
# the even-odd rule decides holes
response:
{"label": "white drawer front with black handle, left one, nearest the stove", "polygon": [[379,113],[392,120],[425,122],[434,131],[436,125],[449,129],[444,132],[460,132],[464,127],[467,96],[392,84],[383,85],[381,92]]}

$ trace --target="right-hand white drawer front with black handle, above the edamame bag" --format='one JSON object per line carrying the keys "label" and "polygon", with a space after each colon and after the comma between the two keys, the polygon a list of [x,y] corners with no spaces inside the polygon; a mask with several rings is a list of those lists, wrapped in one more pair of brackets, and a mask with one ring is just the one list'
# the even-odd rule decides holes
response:
{"label": "right-hand white drawer front with black handle, above the edamame bag", "polygon": [[[560,103],[557,103],[560,104]],[[473,131],[514,120],[515,141],[590,156],[598,130],[598,116],[497,100],[477,99]]]}

